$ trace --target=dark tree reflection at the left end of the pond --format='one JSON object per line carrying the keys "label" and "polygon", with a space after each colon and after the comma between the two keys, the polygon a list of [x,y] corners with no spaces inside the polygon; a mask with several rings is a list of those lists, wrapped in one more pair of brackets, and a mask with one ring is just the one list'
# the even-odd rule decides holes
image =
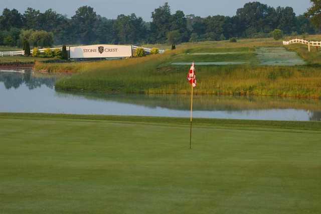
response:
{"label": "dark tree reflection at the left end of the pond", "polygon": [[41,85],[54,88],[56,77],[39,74],[33,75],[32,70],[26,70],[25,73],[18,72],[0,72],[0,82],[4,82],[6,89],[19,88],[23,83],[32,90]]}

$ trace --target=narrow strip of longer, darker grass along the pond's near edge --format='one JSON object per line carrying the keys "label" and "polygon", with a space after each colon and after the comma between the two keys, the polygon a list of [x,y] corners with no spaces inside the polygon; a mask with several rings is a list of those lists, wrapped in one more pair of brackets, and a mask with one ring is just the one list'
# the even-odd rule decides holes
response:
{"label": "narrow strip of longer, darker grass along the pond's near edge", "polygon": [[[68,120],[92,121],[112,123],[135,124],[175,124],[189,126],[189,118],[149,117],[149,116],[113,116],[113,115],[73,115],[73,114],[46,114],[46,113],[0,113],[1,119],[17,120]],[[275,128],[298,130],[321,130],[319,121],[261,121],[261,120],[236,120],[236,119],[206,119],[194,118],[193,123],[198,126],[245,126],[248,128]]]}

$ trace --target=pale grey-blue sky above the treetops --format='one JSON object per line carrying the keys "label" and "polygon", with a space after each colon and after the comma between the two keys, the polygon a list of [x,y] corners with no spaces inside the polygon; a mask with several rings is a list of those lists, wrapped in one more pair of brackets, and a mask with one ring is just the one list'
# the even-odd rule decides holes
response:
{"label": "pale grey-blue sky above the treetops", "polygon": [[[310,6],[309,0],[257,0],[269,6],[290,6],[297,15],[303,14]],[[60,14],[71,17],[77,8],[91,6],[97,14],[109,19],[117,18],[119,14],[135,13],[145,21],[150,21],[150,14],[165,2],[168,2],[172,12],[182,10],[186,15],[195,14],[201,17],[213,15],[234,16],[238,8],[250,0],[0,0],[0,10],[4,8],[17,9],[23,13],[28,7],[40,10],[51,8]]]}

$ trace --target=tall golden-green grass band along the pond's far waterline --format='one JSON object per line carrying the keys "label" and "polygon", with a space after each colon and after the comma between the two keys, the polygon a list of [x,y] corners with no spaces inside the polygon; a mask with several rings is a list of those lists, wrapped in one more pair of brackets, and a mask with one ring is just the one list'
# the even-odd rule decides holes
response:
{"label": "tall golden-green grass band along the pond's far waterline", "polygon": [[[56,88],[125,93],[190,93],[186,81],[189,66],[161,66],[155,69],[154,63],[158,64],[150,60],[128,67],[92,67],[94,71],[58,81]],[[321,72],[314,67],[198,66],[197,72],[196,94],[321,96]]]}

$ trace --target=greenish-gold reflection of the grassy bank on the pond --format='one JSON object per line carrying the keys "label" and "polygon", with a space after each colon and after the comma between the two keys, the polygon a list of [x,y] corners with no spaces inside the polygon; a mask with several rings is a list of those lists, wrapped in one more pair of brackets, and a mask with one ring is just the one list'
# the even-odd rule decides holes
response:
{"label": "greenish-gold reflection of the grassy bank on the pond", "polygon": [[[66,95],[83,96],[87,99],[116,101],[128,104],[143,105],[149,108],[162,107],[173,110],[189,110],[189,95],[174,94],[103,94],[103,93],[60,93]],[[242,111],[265,109],[297,109],[321,111],[321,100],[295,99],[282,97],[245,97],[245,96],[211,96],[195,95],[194,108],[198,111]]]}

